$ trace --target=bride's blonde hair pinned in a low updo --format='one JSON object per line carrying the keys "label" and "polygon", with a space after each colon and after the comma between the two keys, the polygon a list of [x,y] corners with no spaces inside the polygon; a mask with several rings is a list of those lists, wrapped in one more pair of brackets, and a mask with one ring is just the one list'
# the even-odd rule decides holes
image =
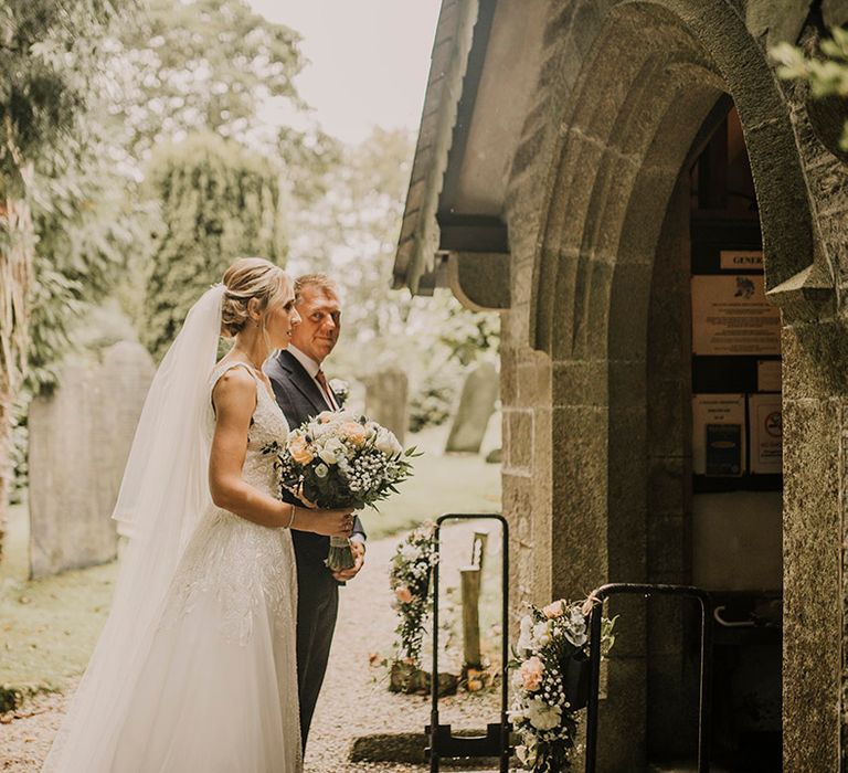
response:
{"label": "bride's blonde hair pinned in a low updo", "polygon": [[221,335],[233,338],[250,320],[247,304],[252,298],[259,301],[262,327],[265,310],[277,297],[284,296],[290,286],[288,275],[264,257],[240,257],[224,273],[226,290],[221,307]]}

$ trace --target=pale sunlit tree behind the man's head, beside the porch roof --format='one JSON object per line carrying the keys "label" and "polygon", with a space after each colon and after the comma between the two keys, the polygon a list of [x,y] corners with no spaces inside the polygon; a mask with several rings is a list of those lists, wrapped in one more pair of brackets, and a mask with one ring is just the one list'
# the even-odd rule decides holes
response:
{"label": "pale sunlit tree behind the man's head, beside the porch roof", "polygon": [[402,367],[413,393],[426,392],[420,402],[439,403],[427,411],[436,415],[449,407],[465,367],[496,351],[499,320],[469,311],[447,290],[421,298],[391,289],[412,155],[405,130],[375,128],[344,148],[324,176],[326,195],[294,213],[290,265],[293,273],[327,272],[341,285],[344,345],[333,368],[362,378]]}

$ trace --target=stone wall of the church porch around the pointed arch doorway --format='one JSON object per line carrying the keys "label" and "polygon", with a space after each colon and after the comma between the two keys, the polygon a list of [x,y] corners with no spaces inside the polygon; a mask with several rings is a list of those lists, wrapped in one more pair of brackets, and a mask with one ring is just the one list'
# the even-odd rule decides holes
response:
{"label": "stone wall of the church porch around the pointed arch doorway", "polygon": [[[786,770],[824,771],[839,766],[848,679],[840,655],[848,352],[834,343],[846,338],[833,282],[848,275],[846,170],[813,131],[802,91],[774,77],[767,36],[744,27],[765,19],[771,35],[797,33],[808,10],[801,6],[749,3],[739,13],[725,0],[551,3],[506,213],[504,508],[515,611],[610,579],[686,575],[671,547],[685,537],[681,438],[657,445],[665,419],[650,414],[646,398],[661,390],[669,410],[682,410],[686,383],[675,369],[662,382],[646,381],[648,366],[656,372],[679,345],[660,336],[647,351],[649,298],[653,277],[674,283],[674,272],[654,265],[657,245],[674,237],[660,233],[674,186],[699,127],[729,92],[756,183],[768,288],[785,325]],[[622,436],[632,441],[624,451]],[[602,750],[604,770],[636,770],[644,760],[646,643],[632,612],[602,710],[606,730],[626,731],[628,744]],[[655,656],[679,652],[674,642],[650,647],[656,667],[662,658]]]}

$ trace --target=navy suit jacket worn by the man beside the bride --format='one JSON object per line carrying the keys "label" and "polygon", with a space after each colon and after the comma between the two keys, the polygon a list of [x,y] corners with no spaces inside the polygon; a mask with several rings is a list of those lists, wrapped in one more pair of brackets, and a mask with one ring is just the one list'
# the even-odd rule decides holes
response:
{"label": "navy suit jacket worn by the man beside the bride", "polygon": [[[321,394],[321,390],[315,380],[306,372],[298,359],[283,349],[276,357],[265,363],[265,373],[271,379],[274,396],[286,416],[288,426],[294,430],[309,419],[317,416],[329,406]],[[335,394],[335,393],[333,393]],[[337,402],[340,402],[338,396]],[[288,499],[296,505],[301,505],[294,496]],[[365,537],[365,531],[359,517],[353,519],[353,533]],[[311,531],[292,530],[292,540],[295,543],[298,566],[303,570],[307,565],[324,568],[324,561],[330,549],[330,538],[316,534]]]}

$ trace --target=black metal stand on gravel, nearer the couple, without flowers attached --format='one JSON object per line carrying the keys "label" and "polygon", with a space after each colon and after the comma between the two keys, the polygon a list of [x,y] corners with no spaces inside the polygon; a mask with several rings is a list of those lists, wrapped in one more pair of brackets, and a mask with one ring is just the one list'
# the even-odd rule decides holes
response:
{"label": "black metal stand on gravel, nearer the couple, without flowers attached", "polygon": [[430,770],[438,773],[438,762],[442,758],[467,756],[484,758],[496,756],[500,760],[500,773],[509,771],[509,755],[512,749],[509,745],[510,724],[507,719],[507,664],[509,663],[509,527],[501,515],[491,512],[447,512],[436,520],[435,543],[436,555],[441,559],[441,529],[446,520],[497,520],[501,526],[504,570],[502,570],[502,618],[501,618],[501,675],[500,675],[500,722],[488,724],[485,735],[454,735],[449,724],[438,723],[438,574],[439,563],[433,568],[433,674],[431,677],[430,695],[433,701],[430,724],[425,731],[430,735]]}

